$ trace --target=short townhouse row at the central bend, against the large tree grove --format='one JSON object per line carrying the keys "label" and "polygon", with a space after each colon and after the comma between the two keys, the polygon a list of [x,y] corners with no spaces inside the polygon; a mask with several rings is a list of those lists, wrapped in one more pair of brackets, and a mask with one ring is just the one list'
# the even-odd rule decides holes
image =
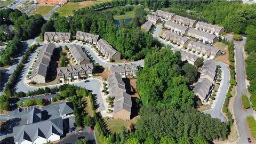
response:
{"label": "short townhouse row at the central bend, against the large tree grove", "polygon": [[125,65],[125,66],[117,66],[117,67],[110,67],[110,73],[118,73],[122,76],[122,78],[126,77],[135,77],[138,71],[138,66],[136,65]]}

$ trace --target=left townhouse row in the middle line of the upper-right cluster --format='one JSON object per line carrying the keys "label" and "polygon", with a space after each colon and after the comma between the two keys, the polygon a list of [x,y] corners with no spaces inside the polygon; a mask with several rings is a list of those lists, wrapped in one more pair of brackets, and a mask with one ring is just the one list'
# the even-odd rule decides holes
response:
{"label": "left townhouse row in the middle line of the upper-right cluster", "polygon": [[179,25],[178,23],[174,23],[172,21],[166,21],[164,23],[164,27],[167,29],[170,29],[174,33],[181,35],[181,36],[186,36],[188,34],[188,27]]}

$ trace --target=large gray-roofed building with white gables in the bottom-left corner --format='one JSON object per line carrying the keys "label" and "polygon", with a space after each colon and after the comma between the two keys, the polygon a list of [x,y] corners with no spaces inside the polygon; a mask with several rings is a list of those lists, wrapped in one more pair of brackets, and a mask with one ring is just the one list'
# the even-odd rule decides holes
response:
{"label": "large gray-roofed building with white gables in the bottom-left corner", "polygon": [[17,143],[21,143],[23,140],[34,142],[37,137],[47,139],[52,133],[57,135],[63,133],[62,118],[13,127],[14,142]]}

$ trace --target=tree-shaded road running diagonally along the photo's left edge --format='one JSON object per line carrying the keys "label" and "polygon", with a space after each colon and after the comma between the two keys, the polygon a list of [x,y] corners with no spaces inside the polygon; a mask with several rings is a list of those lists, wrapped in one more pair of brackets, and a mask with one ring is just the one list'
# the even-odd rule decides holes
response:
{"label": "tree-shaded road running diagonally along the photo's left edge", "polygon": [[30,46],[31,44],[33,44],[35,42],[36,38],[38,38],[38,37],[35,37],[34,39],[28,39],[27,41],[23,41],[22,47],[20,50],[20,54],[18,55],[18,57],[13,60],[12,65],[8,69],[3,69],[5,76],[3,78],[3,81],[1,82],[1,94],[4,91],[5,84],[8,82],[11,74],[16,69],[18,63],[21,61],[24,52],[27,50],[28,46]]}

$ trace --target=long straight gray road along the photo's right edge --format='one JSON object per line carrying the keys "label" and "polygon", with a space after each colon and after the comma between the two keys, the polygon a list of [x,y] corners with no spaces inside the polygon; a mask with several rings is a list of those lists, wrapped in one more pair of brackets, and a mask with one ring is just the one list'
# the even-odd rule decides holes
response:
{"label": "long straight gray road along the photo's right edge", "polygon": [[[227,36],[227,39],[231,40],[231,36]],[[241,95],[247,94],[247,87],[245,84],[245,67],[243,58],[243,47],[245,45],[246,39],[243,38],[241,42],[234,42],[235,52],[236,52],[236,81],[237,81],[237,94],[235,96],[235,103],[233,103],[234,113],[235,113],[235,124],[237,124],[239,137],[241,140],[239,143],[248,143],[247,138],[250,138],[249,129],[246,125],[246,117],[248,115],[253,115],[252,109],[243,111]]]}

